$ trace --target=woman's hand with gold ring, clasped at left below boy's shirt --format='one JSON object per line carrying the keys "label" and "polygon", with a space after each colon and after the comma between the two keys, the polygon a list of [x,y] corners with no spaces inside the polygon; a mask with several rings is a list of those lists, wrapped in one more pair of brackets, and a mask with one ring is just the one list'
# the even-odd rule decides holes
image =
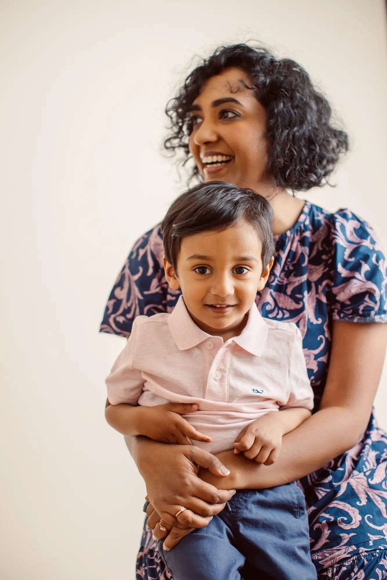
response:
{"label": "woman's hand with gold ring, clasped at left below boy's shirt", "polygon": [[[139,471],[146,483],[147,496],[162,520],[170,527],[183,524],[200,528],[208,518],[222,511],[235,490],[219,490],[198,477],[199,467],[208,469],[216,483],[229,470],[215,455],[194,445],[165,445],[138,437]],[[179,510],[186,509],[179,514]]]}

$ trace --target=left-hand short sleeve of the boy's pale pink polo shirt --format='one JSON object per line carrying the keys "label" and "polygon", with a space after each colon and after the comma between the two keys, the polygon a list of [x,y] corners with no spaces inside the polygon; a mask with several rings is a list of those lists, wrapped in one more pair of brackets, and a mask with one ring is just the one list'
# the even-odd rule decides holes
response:
{"label": "left-hand short sleeve of the boy's pale pink polo shirt", "polygon": [[120,403],[136,405],[143,390],[144,380],[141,371],[133,367],[137,338],[136,326],[135,322],[128,342],[126,342],[124,349],[118,355],[110,374],[105,380],[107,398],[112,405]]}

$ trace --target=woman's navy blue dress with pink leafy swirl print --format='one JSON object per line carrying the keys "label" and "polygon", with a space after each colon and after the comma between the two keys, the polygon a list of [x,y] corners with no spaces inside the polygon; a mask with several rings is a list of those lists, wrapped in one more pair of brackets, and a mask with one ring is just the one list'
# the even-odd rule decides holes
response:
{"label": "woman's navy blue dress with pink leafy swirl print", "polygon": [[[387,321],[386,260],[371,227],[348,209],[328,213],[306,202],[276,236],[276,260],[256,303],[263,316],[295,322],[316,408],[327,377],[332,321]],[[136,242],[107,302],[102,332],[128,336],[139,314],[170,312],[179,291],[162,268],[160,226]],[[374,418],[353,449],[299,482],[305,492],[310,549],[319,579],[387,578],[387,434]],[[137,578],[170,579],[144,526]]]}

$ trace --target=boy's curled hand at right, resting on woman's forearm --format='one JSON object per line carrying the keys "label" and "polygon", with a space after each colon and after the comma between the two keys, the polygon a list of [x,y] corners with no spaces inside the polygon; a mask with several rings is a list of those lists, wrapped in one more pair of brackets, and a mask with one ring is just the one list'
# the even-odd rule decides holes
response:
{"label": "boy's curled hand at right, resting on woman's forearm", "polygon": [[272,465],[277,460],[283,437],[283,425],[276,421],[277,413],[269,412],[245,427],[234,443],[234,454]]}

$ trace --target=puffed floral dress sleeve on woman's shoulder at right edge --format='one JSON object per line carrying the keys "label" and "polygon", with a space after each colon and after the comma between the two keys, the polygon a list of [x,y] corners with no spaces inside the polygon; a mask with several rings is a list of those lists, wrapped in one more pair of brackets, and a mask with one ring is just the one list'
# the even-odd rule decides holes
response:
{"label": "puffed floral dress sleeve on woman's shoulder at right edge", "polygon": [[386,259],[374,230],[348,209],[332,218],[333,320],[386,322]]}

